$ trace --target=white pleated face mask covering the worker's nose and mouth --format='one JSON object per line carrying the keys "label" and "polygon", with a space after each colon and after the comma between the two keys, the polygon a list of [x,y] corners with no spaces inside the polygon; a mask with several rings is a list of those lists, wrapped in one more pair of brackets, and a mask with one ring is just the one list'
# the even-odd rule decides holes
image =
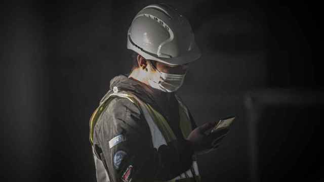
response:
{"label": "white pleated face mask covering the worker's nose and mouth", "polygon": [[160,72],[157,69],[153,72],[152,65],[150,65],[151,77],[148,83],[153,88],[160,89],[164,92],[175,92],[183,83],[186,74],[170,74]]}

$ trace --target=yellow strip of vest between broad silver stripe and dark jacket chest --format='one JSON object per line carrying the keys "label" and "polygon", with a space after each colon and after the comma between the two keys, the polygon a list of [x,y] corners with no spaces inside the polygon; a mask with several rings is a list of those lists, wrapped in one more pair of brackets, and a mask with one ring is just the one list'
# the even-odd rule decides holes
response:
{"label": "yellow strip of vest between broad silver stripe and dark jacket chest", "polygon": [[157,125],[161,133],[163,134],[166,142],[168,143],[173,140],[176,140],[176,135],[174,134],[167,120],[155,109],[153,109],[149,104],[144,103],[144,105],[148,108],[148,112],[153,117],[153,121],[155,122],[155,124]]}

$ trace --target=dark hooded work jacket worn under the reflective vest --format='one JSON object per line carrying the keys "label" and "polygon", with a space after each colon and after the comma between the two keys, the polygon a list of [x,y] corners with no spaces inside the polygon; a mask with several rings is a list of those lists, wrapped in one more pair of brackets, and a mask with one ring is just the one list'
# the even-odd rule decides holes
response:
{"label": "dark hooded work jacket worn under the reflective vest", "polygon": [[[155,149],[140,108],[128,99],[114,98],[100,114],[93,130],[93,152],[103,164],[96,162],[97,180],[122,181],[132,166],[136,169],[132,181],[167,181],[190,168],[193,151],[179,127],[179,106],[175,93],[165,93],[136,79],[119,75],[110,81],[110,89],[101,102],[113,92],[114,87],[132,93],[163,115],[177,140]],[[189,115],[191,127],[195,128]],[[107,176],[98,174],[100,168],[107,171]]]}

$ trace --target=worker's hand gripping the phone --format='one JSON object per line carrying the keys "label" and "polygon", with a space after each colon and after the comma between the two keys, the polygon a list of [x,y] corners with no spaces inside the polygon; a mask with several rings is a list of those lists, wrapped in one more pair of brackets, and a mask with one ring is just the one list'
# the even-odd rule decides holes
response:
{"label": "worker's hand gripping the phone", "polygon": [[208,122],[192,130],[187,140],[197,154],[208,153],[216,149],[228,132],[228,128],[220,128],[210,134],[206,131],[215,127],[215,122]]}

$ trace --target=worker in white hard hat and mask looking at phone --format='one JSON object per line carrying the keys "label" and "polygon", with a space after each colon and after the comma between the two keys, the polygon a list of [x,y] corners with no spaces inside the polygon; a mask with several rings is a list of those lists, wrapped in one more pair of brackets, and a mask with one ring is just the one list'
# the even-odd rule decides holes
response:
{"label": "worker in white hard hat and mask looking at phone", "polygon": [[187,19],[169,5],[149,5],[127,38],[136,53],[131,73],[110,81],[90,119],[97,181],[200,181],[196,155],[217,148],[227,130],[197,127],[176,94],[200,57]]}

